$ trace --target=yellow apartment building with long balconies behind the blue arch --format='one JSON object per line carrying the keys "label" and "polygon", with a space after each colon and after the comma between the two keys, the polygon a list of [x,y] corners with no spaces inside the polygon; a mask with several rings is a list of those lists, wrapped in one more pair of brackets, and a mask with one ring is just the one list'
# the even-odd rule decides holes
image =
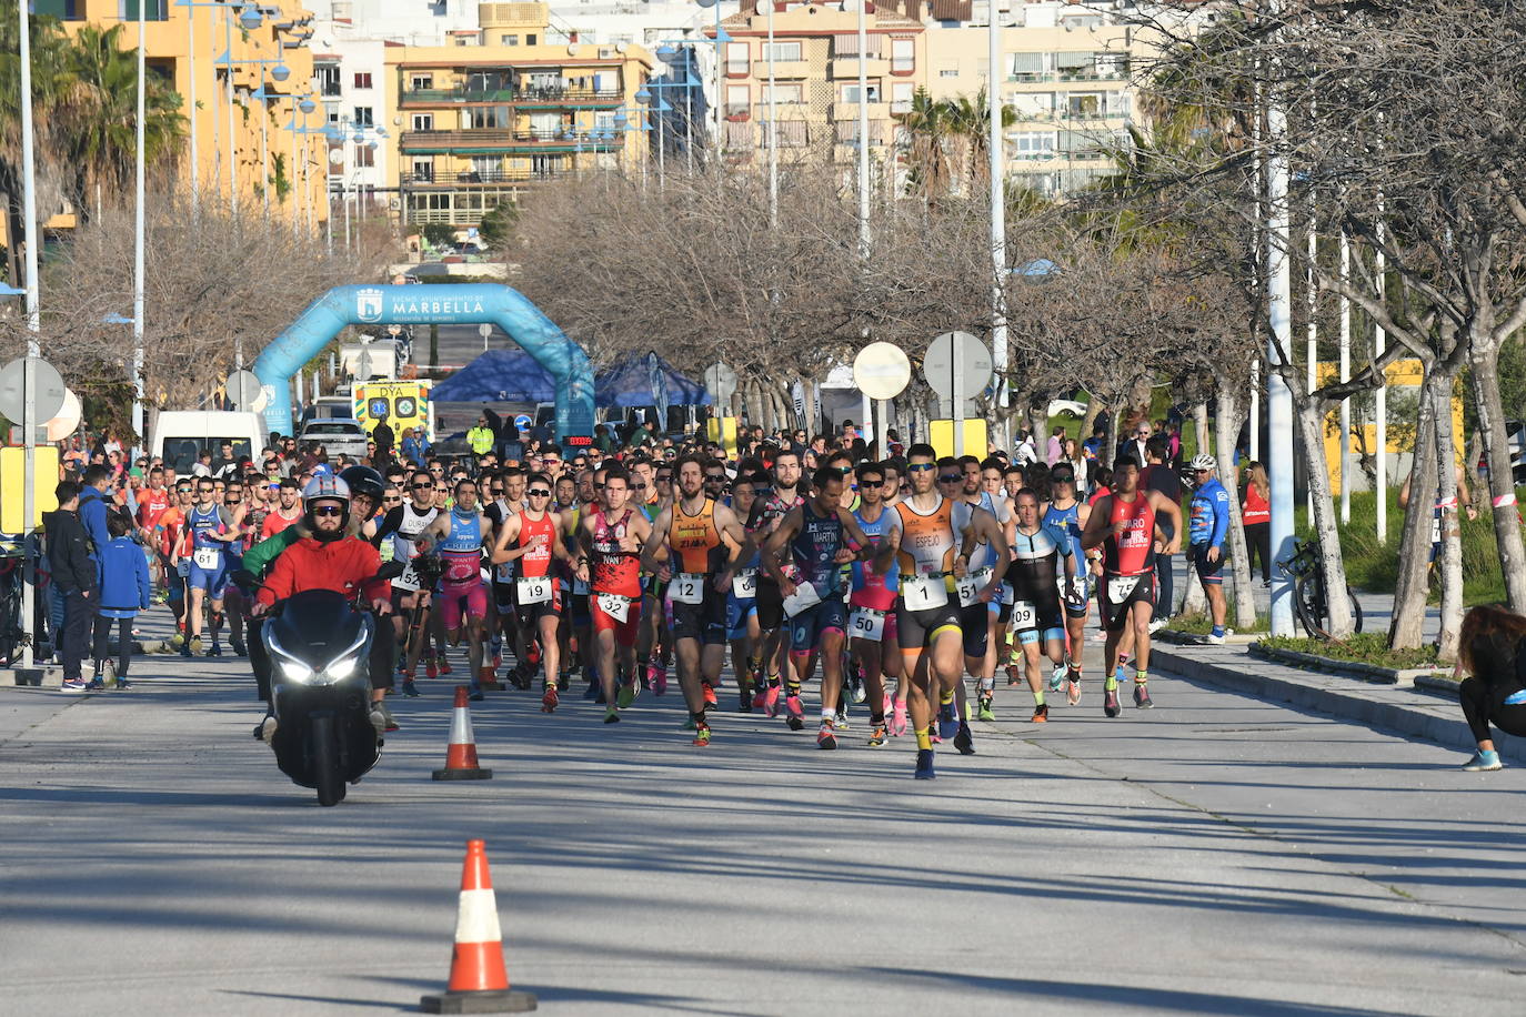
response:
{"label": "yellow apartment building with long balconies behind the blue arch", "polygon": [[639,46],[548,41],[545,3],[484,3],[456,46],[388,46],[406,223],[470,226],[539,181],[636,165],[650,149]]}

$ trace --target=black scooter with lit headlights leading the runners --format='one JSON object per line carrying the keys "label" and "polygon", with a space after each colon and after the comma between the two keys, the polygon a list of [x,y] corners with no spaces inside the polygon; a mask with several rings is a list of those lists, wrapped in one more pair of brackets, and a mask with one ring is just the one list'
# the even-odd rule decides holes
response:
{"label": "black scooter with lit headlights leading the runners", "polygon": [[[375,578],[401,573],[401,563],[386,563]],[[246,592],[259,585],[247,572],[233,581]],[[276,765],[295,784],[314,788],[319,805],[337,805],[345,784],[359,782],[382,756],[371,724],[375,619],[334,590],[288,596],[267,618],[261,634],[270,657]]]}

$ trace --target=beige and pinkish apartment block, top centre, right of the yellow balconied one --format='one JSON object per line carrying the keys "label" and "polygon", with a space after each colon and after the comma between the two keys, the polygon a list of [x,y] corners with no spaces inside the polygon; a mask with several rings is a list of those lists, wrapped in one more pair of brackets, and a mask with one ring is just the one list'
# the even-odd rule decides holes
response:
{"label": "beige and pinkish apartment block, top centre, right of the yellow balconied one", "polygon": [[[777,145],[787,159],[801,149],[830,148],[833,160],[852,162],[859,128],[859,59],[868,95],[868,143],[884,160],[896,143],[894,117],[911,111],[925,84],[926,59],[920,21],[870,3],[865,9],[867,52],[859,53],[858,6],[789,3],[774,6],[774,88],[769,93],[769,17],[757,0],[722,23],[731,37],[722,49],[720,143],[732,162],[768,145],[769,107]],[[714,38],[714,29],[708,32]]]}

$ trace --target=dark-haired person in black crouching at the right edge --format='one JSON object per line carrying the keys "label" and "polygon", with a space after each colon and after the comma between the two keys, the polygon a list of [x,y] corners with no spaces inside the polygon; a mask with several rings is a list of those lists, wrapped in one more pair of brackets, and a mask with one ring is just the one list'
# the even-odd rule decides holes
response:
{"label": "dark-haired person in black crouching at the right edge", "polygon": [[1521,640],[1526,618],[1502,607],[1480,605],[1462,619],[1457,634],[1457,668],[1470,677],[1457,686],[1462,715],[1468,718],[1479,750],[1463,770],[1499,770],[1500,753],[1489,736],[1489,724],[1506,735],[1526,736],[1526,660]]}

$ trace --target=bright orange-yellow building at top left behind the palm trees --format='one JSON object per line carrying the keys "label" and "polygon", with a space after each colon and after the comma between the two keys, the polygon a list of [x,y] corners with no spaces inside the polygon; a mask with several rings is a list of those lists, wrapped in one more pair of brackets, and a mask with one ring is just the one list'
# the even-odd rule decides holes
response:
{"label": "bright orange-yellow building at top left behind the palm trees", "polygon": [[[194,175],[203,200],[226,201],[232,188],[249,204],[262,203],[269,186],[273,210],[302,215],[313,224],[327,218],[327,142],[320,134],[287,130],[299,98],[313,91],[313,58],[307,49],[311,15],[302,3],[261,0],[258,6],[249,5],[246,12],[243,3],[212,0],[198,0],[198,6],[192,8],[175,0],[35,0],[34,11],[60,18],[70,34],[84,24],[122,24],[122,49],[136,50],[139,2],[146,5],[143,50],[148,72],[172,82],[182,98],[180,111],[188,125],[186,151],[179,163],[186,186]],[[252,15],[256,9],[258,24]],[[227,104],[229,61],[224,56],[229,50],[232,117]],[[275,81],[278,66],[285,69],[284,82]],[[262,73],[266,99],[256,96]],[[316,116],[308,114],[307,127],[316,131],[322,119],[320,110]],[[298,130],[304,127],[302,120],[304,114],[296,111]],[[63,224],[70,223],[72,217]]]}

